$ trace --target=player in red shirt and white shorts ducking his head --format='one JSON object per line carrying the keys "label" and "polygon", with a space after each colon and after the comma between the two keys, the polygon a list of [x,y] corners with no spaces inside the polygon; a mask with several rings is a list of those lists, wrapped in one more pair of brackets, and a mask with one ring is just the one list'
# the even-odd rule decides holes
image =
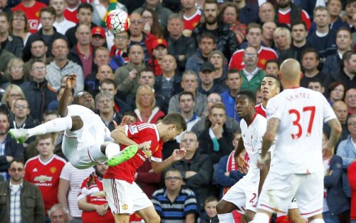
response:
{"label": "player in red shirt and white shorts ducking his head", "polygon": [[130,214],[136,212],[145,222],[159,222],[160,218],[150,199],[135,183],[135,172],[145,160],[150,159],[152,170],[162,172],[173,162],[182,160],[186,154],[184,148],[174,150],[172,155],[162,161],[162,145],[172,140],[187,125],[178,113],[168,114],[161,123],[135,123],[112,131],[111,136],[121,147],[137,145],[136,155],[105,172],[103,185],[115,222],[129,222]]}

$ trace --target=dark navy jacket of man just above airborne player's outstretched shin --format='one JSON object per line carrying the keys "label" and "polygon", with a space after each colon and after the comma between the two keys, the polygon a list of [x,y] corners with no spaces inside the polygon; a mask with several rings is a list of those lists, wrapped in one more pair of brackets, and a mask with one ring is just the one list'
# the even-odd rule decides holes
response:
{"label": "dark navy jacket of man just above airborne player's outstretched shin", "polygon": [[49,103],[52,100],[57,100],[57,91],[48,85],[46,80],[41,83],[31,81],[23,85],[23,93],[27,96],[30,115],[36,120],[42,120],[42,115],[47,110]]}

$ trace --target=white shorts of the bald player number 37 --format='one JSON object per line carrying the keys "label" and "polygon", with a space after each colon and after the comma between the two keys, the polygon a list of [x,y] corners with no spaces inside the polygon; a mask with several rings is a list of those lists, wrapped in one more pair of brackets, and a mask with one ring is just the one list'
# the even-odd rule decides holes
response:
{"label": "white shorts of the bald player number 37", "polygon": [[288,214],[290,201],[298,201],[303,219],[323,213],[324,173],[280,174],[269,172],[258,199],[258,209]]}

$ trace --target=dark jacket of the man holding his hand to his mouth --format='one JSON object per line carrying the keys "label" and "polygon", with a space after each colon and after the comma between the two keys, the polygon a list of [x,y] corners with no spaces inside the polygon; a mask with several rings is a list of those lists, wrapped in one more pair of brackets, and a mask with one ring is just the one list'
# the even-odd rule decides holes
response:
{"label": "dark jacket of the man holding his hand to his mouth", "polygon": [[[197,124],[196,124],[197,125]],[[232,150],[234,150],[234,145],[232,145],[232,140],[234,139],[234,132],[228,130],[224,124],[224,133],[221,138],[219,138],[219,151],[214,151],[213,141],[209,135],[209,128],[205,128],[204,132],[198,137],[199,150],[202,153],[209,155],[213,164],[219,162],[220,158],[224,155],[229,155]]]}

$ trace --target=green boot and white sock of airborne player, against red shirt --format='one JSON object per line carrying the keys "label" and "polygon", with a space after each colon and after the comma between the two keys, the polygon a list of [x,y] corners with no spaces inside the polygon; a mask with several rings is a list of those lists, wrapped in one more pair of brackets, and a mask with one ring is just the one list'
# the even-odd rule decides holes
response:
{"label": "green boot and white sock of airborne player, against red shirt", "polygon": [[130,145],[117,154],[117,149],[120,150],[120,147],[117,147],[117,144],[110,143],[105,148],[105,155],[108,157],[108,165],[110,167],[114,167],[122,162],[125,162],[126,160],[130,160],[138,150],[137,145]]}

